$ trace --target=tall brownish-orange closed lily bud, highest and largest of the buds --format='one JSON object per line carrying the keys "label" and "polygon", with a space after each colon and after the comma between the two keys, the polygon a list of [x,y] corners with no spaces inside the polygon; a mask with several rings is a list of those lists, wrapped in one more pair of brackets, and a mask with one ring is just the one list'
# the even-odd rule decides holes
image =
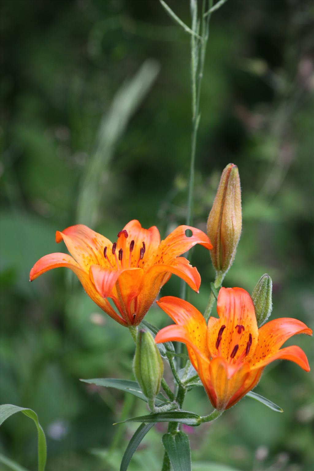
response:
{"label": "tall brownish-orange closed lily bud, highest and largest of the buds", "polygon": [[232,265],[241,229],[239,171],[236,165],[229,163],[222,172],[207,221],[207,234],[213,244],[210,257],[218,276],[225,276]]}

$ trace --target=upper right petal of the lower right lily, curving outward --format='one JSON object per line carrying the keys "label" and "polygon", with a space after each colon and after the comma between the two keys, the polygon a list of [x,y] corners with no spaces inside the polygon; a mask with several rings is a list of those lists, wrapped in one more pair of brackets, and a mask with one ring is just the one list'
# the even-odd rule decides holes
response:
{"label": "upper right petal of the lower right lily, curving outward", "polygon": [[[292,335],[296,335],[298,333],[306,333],[307,335],[312,335],[312,330],[309,329],[303,322],[299,321],[298,319],[293,319],[290,317],[274,319],[262,325],[262,327],[258,331],[258,346],[255,349],[254,356],[252,357],[252,364],[254,365],[254,367],[258,368],[262,364],[267,365],[268,363],[273,361],[271,359],[273,357],[275,360],[277,358],[275,357],[275,355],[277,354],[282,344],[286,340],[290,339]],[[298,363],[298,361],[296,361],[296,363]],[[302,365],[305,365],[303,359],[301,360],[301,363]],[[300,365],[301,368],[303,368],[302,365]],[[307,367],[308,363],[306,368]]]}

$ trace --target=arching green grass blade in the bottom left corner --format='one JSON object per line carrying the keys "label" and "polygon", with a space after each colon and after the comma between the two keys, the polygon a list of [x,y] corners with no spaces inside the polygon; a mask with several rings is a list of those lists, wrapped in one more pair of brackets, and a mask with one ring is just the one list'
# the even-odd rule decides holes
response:
{"label": "arching green grass blade in the bottom left corner", "polygon": [[47,459],[47,444],[45,433],[38,422],[38,416],[32,409],[25,409],[24,407],[14,406],[13,404],[4,404],[0,406],[0,425],[16,412],[22,412],[27,417],[30,417],[37,427],[38,434],[38,471],[44,471]]}

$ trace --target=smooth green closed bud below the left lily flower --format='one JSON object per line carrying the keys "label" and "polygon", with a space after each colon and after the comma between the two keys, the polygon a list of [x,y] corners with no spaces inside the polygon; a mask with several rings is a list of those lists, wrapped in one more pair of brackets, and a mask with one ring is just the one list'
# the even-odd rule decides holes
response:
{"label": "smooth green closed bud below the left lily flower", "polygon": [[137,335],[133,372],[150,405],[160,390],[163,363],[152,334],[144,329]]}

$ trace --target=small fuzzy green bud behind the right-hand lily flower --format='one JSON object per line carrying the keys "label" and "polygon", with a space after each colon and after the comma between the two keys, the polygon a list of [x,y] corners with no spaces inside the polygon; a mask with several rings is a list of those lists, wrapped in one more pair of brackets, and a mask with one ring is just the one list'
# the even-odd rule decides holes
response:
{"label": "small fuzzy green bud behind the right-hand lily flower", "polygon": [[258,284],[255,286],[251,296],[255,307],[258,327],[263,325],[271,315],[273,309],[272,291],[272,279],[267,275],[267,273],[265,273],[265,275],[259,278]]}

